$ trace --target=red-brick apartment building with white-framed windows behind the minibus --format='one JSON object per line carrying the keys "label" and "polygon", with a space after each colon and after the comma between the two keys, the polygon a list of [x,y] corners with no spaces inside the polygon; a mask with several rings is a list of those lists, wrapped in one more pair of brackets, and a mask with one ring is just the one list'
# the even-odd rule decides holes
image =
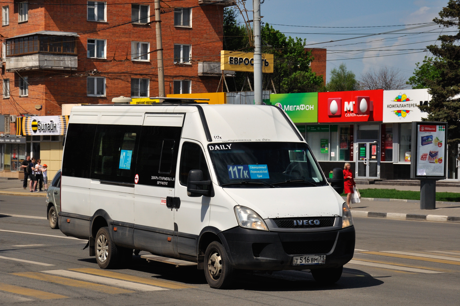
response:
{"label": "red-brick apartment building with white-framed windows behind the minibus", "polygon": [[[209,67],[220,72],[228,5],[161,2],[166,94],[215,92]],[[153,1],[6,0],[1,10],[0,114],[61,115],[64,103],[158,95]]]}

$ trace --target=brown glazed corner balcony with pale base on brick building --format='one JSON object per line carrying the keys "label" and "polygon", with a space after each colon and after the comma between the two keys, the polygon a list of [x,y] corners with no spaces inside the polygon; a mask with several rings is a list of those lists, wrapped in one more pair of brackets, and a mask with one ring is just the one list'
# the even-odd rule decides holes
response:
{"label": "brown glazed corner balcony with pale base on brick building", "polygon": [[77,68],[77,33],[40,31],[6,39],[6,71]]}

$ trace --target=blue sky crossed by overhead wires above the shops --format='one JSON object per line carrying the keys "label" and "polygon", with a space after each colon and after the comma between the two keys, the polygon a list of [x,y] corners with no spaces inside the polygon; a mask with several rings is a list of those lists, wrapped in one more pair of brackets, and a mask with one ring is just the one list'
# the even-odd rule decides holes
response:
{"label": "blue sky crossed by overhead wires above the shops", "polygon": [[[247,8],[252,9],[252,1],[247,0],[246,2]],[[414,71],[415,63],[421,62],[425,55],[430,56],[430,53],[420,52],[422,50],[418,49],[424,49],[427,45],[436,43],[439,32],[449,33],[447,31],[453,30],[452,28],[442,29],[437,25],[409,26],[408,24],[432,22],[432,19],[438,16],[439,11],[446,4],[447,0],[265,0],[261,4],[261,15],[263,16],[263,22],[273,24],[274,28],[287,36],[305,38],[308,47],[315,46],[328,49],[327,79],[331,69],[338,67],[342,62],[356,74],[357,78],[363,72],[367,72],[370,69],[378,70],[384,66],[399,69],[403,76],[408,78]],[[252,16],[250,16],[250,19],[252,19]],[[394,25],[403,26],[380,28],[292,27],[375,27]],[[420,26],[424,27],[409,29]],[[329,42],[330,40],[354,38],[363,36],[363,34],[395,30],[403,31],[394,34],[381,34]],[[409,52],[417,53],[407,54]],[[406,54],[388,56],[400,53]]]}

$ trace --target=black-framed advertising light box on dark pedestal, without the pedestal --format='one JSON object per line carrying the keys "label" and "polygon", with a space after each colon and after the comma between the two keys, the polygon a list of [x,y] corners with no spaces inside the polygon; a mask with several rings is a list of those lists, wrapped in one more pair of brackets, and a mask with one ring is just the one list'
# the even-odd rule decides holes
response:
{"label": "black-framed advertising light box on dark pedestal, without the pedestal", "polygon": [[411,177],[446,177],[447,122],[412,122]]}

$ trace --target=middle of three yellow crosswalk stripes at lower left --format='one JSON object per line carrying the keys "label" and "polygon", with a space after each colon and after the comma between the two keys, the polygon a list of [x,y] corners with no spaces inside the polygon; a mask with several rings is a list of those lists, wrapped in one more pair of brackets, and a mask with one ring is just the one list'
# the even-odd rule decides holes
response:
{"label": "middle of three yellow crosswalk stripes at lower left", "polygon": [[99,292],[104,292],[104,293],[118,294],[118,293],[132,293],[132,292],[134,292],[132,290],[116,288],[116,287],[110,287],[110,286],[106,286],[106,285],[103,285],[103,284],[94,284],[94,283],[90,283],[90,282],[83,282],[81,280],[76,280],[76,279],[71,279],[71,278],[64,278],[64,277],[60,277],[60,276],[43,274],[43,273],[38,273],[38,272],[18,272],[18,273],[11,273],[11,274],[17,275],[17,276],[23,276],[23,277],[27,277],[27,278],[43,280],[45,282],[61,284],[61,285],[71,286],[71,287],[78,287],[78,288],[83,288],[83,289],[89,289],[89,290],[94,290],[94,291],[99,291]]}

